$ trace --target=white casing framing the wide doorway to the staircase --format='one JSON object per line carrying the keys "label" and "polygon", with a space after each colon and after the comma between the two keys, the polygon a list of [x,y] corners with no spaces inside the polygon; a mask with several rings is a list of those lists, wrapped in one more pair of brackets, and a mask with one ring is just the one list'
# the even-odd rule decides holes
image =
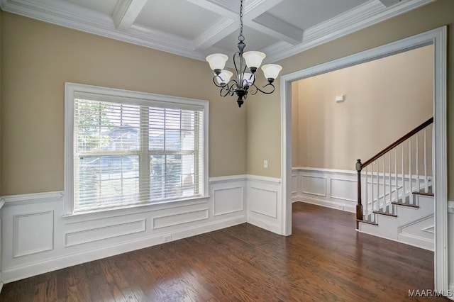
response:
{"label": "white casing framing the wide doorway to the staircase", "polygon": [[[282,121],[282,223],[284,235],[292,233],[292,82],[433,45],[433,175],[435,193],[435,289],[448,290],[448,196],[446,150],[446,28],[438,28],[372,50],[286,74],[281,77]],[[352,223],[352,225],[354,225]]]}

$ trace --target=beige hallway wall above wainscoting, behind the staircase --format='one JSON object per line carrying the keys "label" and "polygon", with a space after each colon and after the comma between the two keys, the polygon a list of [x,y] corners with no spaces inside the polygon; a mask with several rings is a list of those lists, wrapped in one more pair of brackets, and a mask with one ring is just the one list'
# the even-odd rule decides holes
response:
{"label": "beige hallway wall above wainscoting, behind the staircase", "polygon": [[302,79],[292,84],[292,162],[353,170],[356,159],[368,160],[431,116],[433,45]]}

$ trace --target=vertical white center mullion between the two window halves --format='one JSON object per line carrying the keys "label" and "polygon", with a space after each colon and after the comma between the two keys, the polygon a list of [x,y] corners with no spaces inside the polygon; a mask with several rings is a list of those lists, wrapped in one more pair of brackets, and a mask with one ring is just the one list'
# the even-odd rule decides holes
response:
{"label": "vertical white center mullion between the two window halves", "polygon": [[140,201],[150,201],[150,155],[148,106],[140,106],[140,155],[139,155],[139,194]]}

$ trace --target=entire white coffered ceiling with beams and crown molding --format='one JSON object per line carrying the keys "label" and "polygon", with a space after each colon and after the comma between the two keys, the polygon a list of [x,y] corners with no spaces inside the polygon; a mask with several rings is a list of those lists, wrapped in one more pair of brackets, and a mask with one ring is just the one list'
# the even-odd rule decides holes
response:
{"label": "entire white coffered ceiling with beams and crown molding", "polygon": [[[204,60],[231,56],[240,0],[0,0],[1,9]],[[246,50],[275,62],[435,0],[245,0]]]}

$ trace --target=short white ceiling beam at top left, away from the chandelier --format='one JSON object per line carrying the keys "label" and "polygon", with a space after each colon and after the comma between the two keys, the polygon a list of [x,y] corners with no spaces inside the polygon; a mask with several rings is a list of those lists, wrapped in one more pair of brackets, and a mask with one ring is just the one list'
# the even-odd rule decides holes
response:
{"label": "short white ceiling beam at top left, away from the chandelier", "polygon": [[118,30],[128,30],[147,0],[118,0],[112,19]]}

